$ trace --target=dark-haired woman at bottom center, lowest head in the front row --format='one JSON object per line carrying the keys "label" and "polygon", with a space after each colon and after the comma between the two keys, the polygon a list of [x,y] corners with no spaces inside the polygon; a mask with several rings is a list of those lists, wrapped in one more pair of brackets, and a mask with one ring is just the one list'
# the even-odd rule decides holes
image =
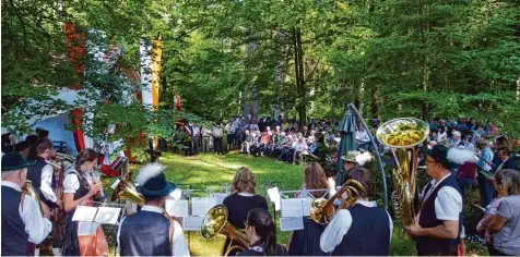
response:
{"label": "dark-haired woman at bottom center, lowest head in the front row", "polygon": [[276,243],[274,221],[267,209],[250,210],[245,223],[250,247],[239,256],[287,256],[287,248]]}

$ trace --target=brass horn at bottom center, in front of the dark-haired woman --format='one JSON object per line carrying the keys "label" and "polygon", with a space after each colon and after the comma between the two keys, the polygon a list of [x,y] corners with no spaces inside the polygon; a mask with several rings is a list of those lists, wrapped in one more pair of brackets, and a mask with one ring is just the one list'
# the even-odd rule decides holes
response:
{"label": "brass horn at bottom center, in front of the dark-haired woman", "polygon": [[[205,238],[211,238],[218,233],[232,238],[229,245],[225,247],[224,256],[228,256],[233,250],[244,252],[249,247],[249,240],[246,233],[229,223],[227,215],[227,208],[223,205],[217,205],[208,211],[201,225],[201,234]],[[238,242],[239,245],[231,246],[233,241]]]}

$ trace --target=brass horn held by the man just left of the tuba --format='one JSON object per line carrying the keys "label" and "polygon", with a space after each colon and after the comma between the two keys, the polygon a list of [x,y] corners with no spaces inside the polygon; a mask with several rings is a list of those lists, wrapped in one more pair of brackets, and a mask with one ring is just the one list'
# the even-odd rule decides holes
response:
{"label": "brass horn held by the man just left of the tuba", "polygon": [[[347,193],[347,198],[341,198],[343,193]],[[329,199],[317,198],[310,203],[310,218],[320,224],[328,224],[334,217],[335,209],[332,204],[340,198],[346,208],[352,207],[357,198],[365,192],[365,186],[355,180],[347,180],[345,184]]]}

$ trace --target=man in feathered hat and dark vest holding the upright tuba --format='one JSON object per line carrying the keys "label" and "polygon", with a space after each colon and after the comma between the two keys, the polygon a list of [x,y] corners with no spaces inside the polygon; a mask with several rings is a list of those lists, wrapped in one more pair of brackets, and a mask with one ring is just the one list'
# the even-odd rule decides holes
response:
{"label": "man in feathered hat and dark vest holding the upright tuba", "polygon": [[[460,155],[453,152],[450,156]],[[462,196],[457,180],[450,172],[448,148],[434,146],[426,163],[428,175],[433,180],[419,197],[421,209],[415,223],[404,230],[415,236],[417,255],[457,256],[462,230]]]}

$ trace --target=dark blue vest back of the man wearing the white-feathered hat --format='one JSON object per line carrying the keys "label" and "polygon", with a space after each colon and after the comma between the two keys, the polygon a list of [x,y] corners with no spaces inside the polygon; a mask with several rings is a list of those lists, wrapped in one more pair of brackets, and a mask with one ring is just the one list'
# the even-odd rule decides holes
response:
{"label": "dark blue vest back of the man wearing the white-feathered hat", "polygon": [[172,256],[169,219],[162,213],[141,210],[121,223],[121,256]]}

